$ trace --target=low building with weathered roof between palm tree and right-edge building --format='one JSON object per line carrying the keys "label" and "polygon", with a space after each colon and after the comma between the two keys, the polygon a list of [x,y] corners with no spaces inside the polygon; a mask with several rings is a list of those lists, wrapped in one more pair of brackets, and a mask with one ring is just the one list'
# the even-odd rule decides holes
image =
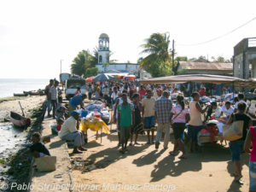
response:
{"label": "low building with weathered roof between palm tree and right-edge building", "polygon": [[195,62],[180,61],[178,71],[183,74],[212,74],[228,75],[233,74],[233,63],[221,62]]}

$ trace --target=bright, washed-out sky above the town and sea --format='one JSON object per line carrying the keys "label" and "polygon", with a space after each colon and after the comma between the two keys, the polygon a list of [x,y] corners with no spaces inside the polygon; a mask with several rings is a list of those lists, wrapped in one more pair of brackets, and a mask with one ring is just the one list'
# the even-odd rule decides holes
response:
{"label": "bright, washed-out sky above the town and sea", "polygon": [[256,1],[231,0],[0,0],[0,78],[55,78],[69,72],[82,49],[97,46],[108,33],[112,59],[136,62],[143,40],[153,32],[170,32],[177,55],[233,55],[242,38],[256,37]]}

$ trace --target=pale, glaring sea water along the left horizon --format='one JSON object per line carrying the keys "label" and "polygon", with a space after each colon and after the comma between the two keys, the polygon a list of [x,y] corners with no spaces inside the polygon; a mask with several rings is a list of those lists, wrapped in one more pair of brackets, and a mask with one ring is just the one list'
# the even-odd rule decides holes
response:
{"label": "pale, glaring sea water along the left horizon", "polygon": [[49,79],[0,79],[0,98],[28,90],[43,90]]}

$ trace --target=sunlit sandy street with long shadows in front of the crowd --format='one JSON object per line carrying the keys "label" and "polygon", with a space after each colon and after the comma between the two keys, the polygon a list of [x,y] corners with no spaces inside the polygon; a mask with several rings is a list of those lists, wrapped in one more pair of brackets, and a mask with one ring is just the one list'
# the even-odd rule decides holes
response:
{"label": "sunlit sandy street with long shadows in front of the crowd", "polygon": [[73,156],[69,148],[72,158],[84,160],[84,167],[73,168],[79,191],[248,191],[248,155],[242,155],[244,185],[239,185],[230,176],[234,170],[227,146],[209,143],[202,153],[179,160],[169,155],[172,143],[167,150],[162,143],[156,150],[154,145],[146,144],[145,136],[140,136],[138,142],[143,145],[128,147],[128,153],[119,154],[116,132],[103,136],[102,143],[94,134],[89,132],[84,154]]}

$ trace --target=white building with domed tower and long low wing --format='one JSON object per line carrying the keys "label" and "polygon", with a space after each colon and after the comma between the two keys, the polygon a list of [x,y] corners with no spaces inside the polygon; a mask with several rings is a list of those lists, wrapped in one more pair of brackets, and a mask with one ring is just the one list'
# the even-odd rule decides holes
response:
{"label": "white building with domed tower and long low wing", "polygon": [[[117,70],[121,73],[138,73],[140,65],[137,63],[109,63],[109,37],[108,34],[102,33],[99,37],[98,45],[98,67],[101,73],[110,70]],[[108,63],[108,65],[106,65]]]}

